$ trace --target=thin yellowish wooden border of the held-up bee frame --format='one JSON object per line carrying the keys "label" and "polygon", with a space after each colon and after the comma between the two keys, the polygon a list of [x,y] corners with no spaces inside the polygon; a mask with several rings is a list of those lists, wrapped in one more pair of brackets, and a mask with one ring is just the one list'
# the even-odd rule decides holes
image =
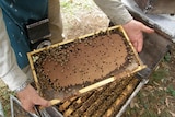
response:
{"label": "thin yellowish wooden border of the held-up bee frame", "polygon": [[[124,71],[124,72],[125,72],[125,73],[124,73],[125,75],[122,75],[122,74],[119,74],[119,75],[117,75],[117,77],[116,77],[116,75],[112,75],[112,77],[109,77],[109,78],[107,78],[107,79],[104,79],[104,80],[102,80],[102,81],[98,81],[98,82],[96,82],[96,83],[93,83],[93,84],[91,84],[91,85],[88,85],[88,86],[85,86],[85,87],[79,89],[75,93],[73,93],[73,94],[71,94],[71,95],[80,95],[80,94],[85,93],[85,92],[89,92],[89,91],[91,91],[91,90],[95,90],[95,89],[97,89],[97,87],[100,87],[100,86],[103,86],[103,85],[105,85],[105,84],[107,84],[107,83],[110,83],[110,82],[115,81],[115,80],[118,79],[118,78],[129,77],[129,75],[131,75],[131,74],[133,74],[133,73],[136,73],[136,72],[138,72],[138,71],[140,71],[140,70],[142,70],[142,69],[145,68],[145,65],[143,65],[142,61],[140,60],[140,58],[139,58],[139,56],[138,56],[138,52],[137,52],[136,49],[133,48],[133,46],[132,46],[132,44],[130,43],[127,34],[125,33],[124,28],[122,28],[120,25],[114,26],[114,27],[109,27],[109,28],[107,28],[106,31],[100,31],[100,32],[96,32],[96,33],[88,34],[88,35],[84,35],[84,36],[79,37],[79,38],[77,38],[77,39],[82,39],[82,38],[91,37],[91,36],[93,36],[93,35],[100,35],[102,32],[105,33],[106,35],[108,35],[108,34],[113,33],[113,31],[117,31],[118,33],[120,33],[120,34],[124,36],[124,38],[127,40],[127,45],[130,47],[130,49],[131,49],[131,51],[132,51],[132,54],[133,54],[133,56],[135,56],[135,62],[137,63],[137,65],[136,65],[136,63],[135,63],[135,65],[136,65],[137,67],[136,67],[133,70],[131,70],[131,71],[127,71],[127,69],[129,69],[129,67],[131,67],[131,66],[128,66],[128,68],[126,69],[126,71]],[[36,71],[35,71],[35,67],[34,67],[34,61],[35,61],[35,60],[34,60],[34,55],[36,55],[36,54],[38,54],[38,52],[40,52],[40,51],[48,50],[48,49],[50,49],[50,48],[56,48],[56,47],[59,47],[59,46],[61,46],[61,45],[66,45],[66,44],[68,44],[68,43],[72,43],[72,42],[74,42],[74,40],[77,40],[77,39],[69,39],[69,40],[67,40],[67,42],[58,43],[58,44],[55,44],[55,45],[51,45],[51,46],[48,46],[48,47],[45,47],[45,48],[42,48],[42,49],[38,49],[38,50],[34,50],[34,51],[31,51],[31,52],[27,54],[28,61],[30,61],[30,66],[31,66],[32,73],[33,73],[33,77],[34,77],[34,81],[35,81],[35,84],[36,84],[37,90],[40,92],[40,95],[43,94],[43,92],[42,92],[42,87],[40,87],[40,85],[39,85],[39,80],[38,80],[38,78],[37,78],[37,74],[36,74]],[[71,95],[69,95],[69,96],[71,96]],[[57,104],[57,103],[61,102],[61,101],[65,100],[65,98],[66,98],[66,97],[63,97],[63,98],[60,98],[60,97],[56,97],[56,98],[55,98],[55,97],[54,97],[54,98],[49,98],[49,100],[51,100],[51,104],[54,105],[54,104]]]}

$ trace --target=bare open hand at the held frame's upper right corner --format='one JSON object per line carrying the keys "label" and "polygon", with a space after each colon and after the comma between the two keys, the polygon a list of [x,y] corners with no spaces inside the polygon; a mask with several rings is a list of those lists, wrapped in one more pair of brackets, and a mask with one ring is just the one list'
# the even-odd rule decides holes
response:
{"label": "bare open hand at the held frame's upper right corner", "polygon": [[143,32],[145,33],[153,33],[154,30],[145,26],[141,22],[136,20],[131,20],[129,23],[122,25],[124,30],[126,31],[130,42],[132,43],[133,47],[138,52],[142,50],[143,47]]}

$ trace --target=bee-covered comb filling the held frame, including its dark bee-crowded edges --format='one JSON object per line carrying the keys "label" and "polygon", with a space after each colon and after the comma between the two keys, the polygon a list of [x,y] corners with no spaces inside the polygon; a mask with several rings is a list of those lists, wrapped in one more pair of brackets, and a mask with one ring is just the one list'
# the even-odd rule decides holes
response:
{"label": "bee-covered comb filling the held frame, including its dark bee-crowded edges", "polygon": [[33,57],[42,91],[70,93],[120,72],[135,60],[133,55],[118,32],[101,32],[49,47]]}

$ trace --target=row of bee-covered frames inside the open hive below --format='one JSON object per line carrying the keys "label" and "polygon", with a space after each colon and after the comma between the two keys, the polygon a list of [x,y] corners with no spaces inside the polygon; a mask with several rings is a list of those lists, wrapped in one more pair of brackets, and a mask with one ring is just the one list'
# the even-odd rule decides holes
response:
{"label": "row of bee-covered frames inside the open hive below", "polygon": [[63,101],[56,107],[63,117],[116,117],[139,82],[135,77],[117,79],[105,86]]}

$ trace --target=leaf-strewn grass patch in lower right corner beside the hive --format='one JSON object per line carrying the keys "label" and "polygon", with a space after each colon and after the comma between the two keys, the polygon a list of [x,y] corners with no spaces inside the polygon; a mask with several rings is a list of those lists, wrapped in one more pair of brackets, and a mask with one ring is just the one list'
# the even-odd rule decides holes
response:
{"label": "leaf-strewn grass patch in lower right corner beside the hive", "polygon": [[149,83],[131,102],[138,106],[128,106],[124,117],[174,117],[175,84],[170,82],[170,56],[165,56]]}

